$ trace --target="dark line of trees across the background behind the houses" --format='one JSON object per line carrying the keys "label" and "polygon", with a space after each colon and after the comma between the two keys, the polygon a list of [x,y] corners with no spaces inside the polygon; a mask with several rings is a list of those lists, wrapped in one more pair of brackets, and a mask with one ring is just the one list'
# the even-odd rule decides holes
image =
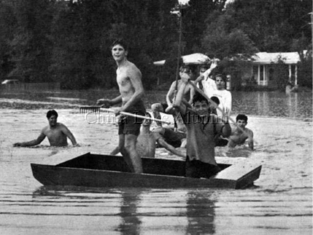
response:
{"label": "dark line of trees across the background behind the houses", "polygon": [[[312,52],[312,0],[225,2],[190,0],[181,10],[182,54],[232,58],[225,67],[238,73],[234,68],[242,57],[257,51]],[[0,79],[60,82],[64,89],[116,87],[110,45],[124,38],[147,89],[157,76],[173,81],[179,19],[170,12],[176,5],[177,0],[0,0]],[[298,80],[312,87],[312,59],[302,58]],[[168,63],[159,71],[153,61],[163,59]]]}

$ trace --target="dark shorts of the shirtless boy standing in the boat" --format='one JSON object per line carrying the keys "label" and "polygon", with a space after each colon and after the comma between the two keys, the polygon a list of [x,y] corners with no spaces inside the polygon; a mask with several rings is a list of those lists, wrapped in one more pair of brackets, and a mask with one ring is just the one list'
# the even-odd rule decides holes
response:
{"label": "dark shorts of the shirtless boy standing in the boat", "polygon": [[[139,100],[125,112],[145,116],[146,109],[142,100]],[[118,135],[132,134],[138,136],[142,120],[142,118],[121,115],[118,119]]]}

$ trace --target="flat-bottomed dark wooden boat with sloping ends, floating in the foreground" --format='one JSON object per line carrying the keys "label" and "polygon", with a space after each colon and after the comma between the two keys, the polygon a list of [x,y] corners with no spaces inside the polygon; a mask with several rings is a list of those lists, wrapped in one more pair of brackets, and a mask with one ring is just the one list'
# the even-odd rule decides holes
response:
{"label": "flat-bottomed dark wooden boat with sloping ends, floating in the foreground", "polygon": [[[128,171],[120,156],[84,154],[57,165],[31,164],[33,176],[46,186],[140,187],[140,188],[245,188],[259,178],[261,165],[240,170],[219,164],[223,171],[210,179],[184,177],[183,161],[142,158],[143,174]],[[238,170],[237,170],[238,172]],[[225,174],[229,174],[227,178]],[[224,178],[223,178],[224,177]]]}

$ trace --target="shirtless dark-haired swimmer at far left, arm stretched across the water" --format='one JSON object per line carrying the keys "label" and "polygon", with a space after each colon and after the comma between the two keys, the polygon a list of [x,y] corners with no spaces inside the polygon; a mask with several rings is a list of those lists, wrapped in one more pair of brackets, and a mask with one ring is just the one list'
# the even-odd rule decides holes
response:
{"label": "shirtless dark-haired swimmer at far left, arm stretched across the water", "polygon": [[67,137],[72,142],[73,146],[79,146],[75,137],[68,130],[67,126],[57,122],[58,113],[55,110],[49,110],[46,114],[49,125],[45,126],[36,140],[27,142],[17,142],[13,147],[26,147],[40,144],[45,137],[48,138],[51,146],[67,146]]}

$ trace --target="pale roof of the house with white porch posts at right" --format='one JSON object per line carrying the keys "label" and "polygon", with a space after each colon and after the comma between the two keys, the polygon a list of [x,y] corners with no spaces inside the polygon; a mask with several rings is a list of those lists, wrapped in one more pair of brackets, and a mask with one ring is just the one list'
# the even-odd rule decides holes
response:
{"label": "pale roof of the house with white porch posts at right", "polygon": [[298,52],[258,52],[252,56],[253,64],[271,64],[277,63],[279,59],[285,64],[296,64],[300,61]]}

